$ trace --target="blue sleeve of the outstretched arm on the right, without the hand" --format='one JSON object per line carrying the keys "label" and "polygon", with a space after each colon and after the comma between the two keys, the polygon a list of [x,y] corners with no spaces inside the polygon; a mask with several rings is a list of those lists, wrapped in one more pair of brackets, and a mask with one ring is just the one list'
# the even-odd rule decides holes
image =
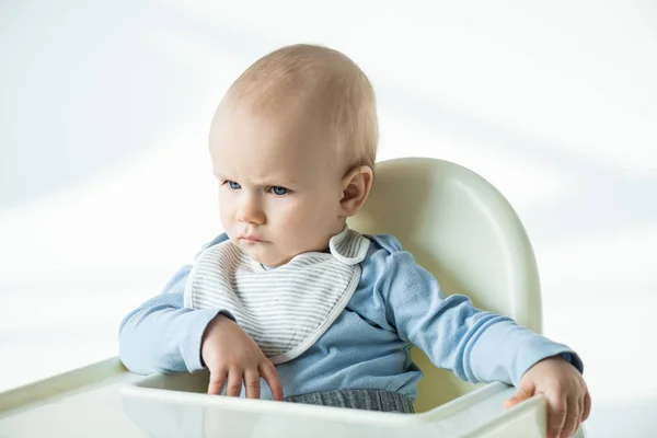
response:
{"label": "blue sleeve of the outstretched arm on the right, without the hand", "polygon": [[377,253],[381,263],[377,284],[387,301],[388,320],[402,339],[419,347],[437,367],[471,382],[514,385],[534,364],[556,355],[583,371],[581,360],[567,346],[509,318],[479,310],[465,296],[446,297],[438,280],[410,253]]}

